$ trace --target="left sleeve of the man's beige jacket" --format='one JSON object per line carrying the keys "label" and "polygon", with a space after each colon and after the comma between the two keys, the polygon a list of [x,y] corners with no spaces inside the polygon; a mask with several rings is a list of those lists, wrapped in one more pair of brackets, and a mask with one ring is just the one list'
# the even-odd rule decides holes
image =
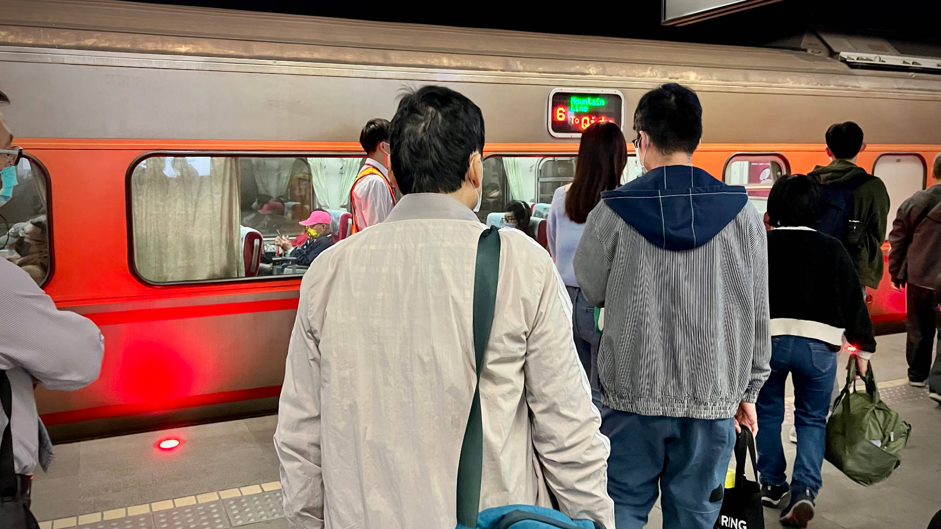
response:
{"label": "left sleeve of the man's beige jacket", "polygon": [[324,478],[320,455],[320,351],[311,326],[311,274],[301,281],[278,407],[275,451],[284,516],[292,529],[323,529]]}

